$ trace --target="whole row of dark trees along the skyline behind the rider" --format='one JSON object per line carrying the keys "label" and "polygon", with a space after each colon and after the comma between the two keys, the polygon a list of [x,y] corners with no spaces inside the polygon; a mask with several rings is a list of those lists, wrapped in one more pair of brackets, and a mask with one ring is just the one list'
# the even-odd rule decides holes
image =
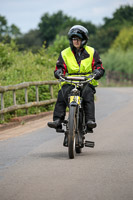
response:
{"label": "whole row of dark trees along the skyline behind the rider", "polygon": [[8,42],[10,42],[10,38],[15,38],[19,44],[19,50],[30,49],[36,53],[44,41],[48,47],[56,40],[56,35],[67,36],[69,29],[75,24],[85,26],[89,31],[89,44],[100,53],[104,53],[112,46],[121,29],[133,26],[133,6],[120,6],[111,18],[104,18],[104,24],[101,26],[72,18],[61,10],[51,15],[44,13],[37,29],[30,30],[21,37],[19,29],[15,25],[9,27],[5,17],[0,16],[0,40],[3,36]]}

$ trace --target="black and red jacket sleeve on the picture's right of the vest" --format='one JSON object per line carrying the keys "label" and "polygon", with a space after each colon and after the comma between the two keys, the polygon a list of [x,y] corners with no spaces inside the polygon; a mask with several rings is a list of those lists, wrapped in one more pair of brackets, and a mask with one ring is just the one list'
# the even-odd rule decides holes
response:
{"label": "black and red jacket sleeve on the picture's right of the vest", "polygon": [[102,65],[102,60],[96,50],[94,50],[94,56],[93,56],[93,61],[92,61],[92,71],[95,69],[98,69],[101,73],[101,77],[104,75],[105,69],[103,68]]}

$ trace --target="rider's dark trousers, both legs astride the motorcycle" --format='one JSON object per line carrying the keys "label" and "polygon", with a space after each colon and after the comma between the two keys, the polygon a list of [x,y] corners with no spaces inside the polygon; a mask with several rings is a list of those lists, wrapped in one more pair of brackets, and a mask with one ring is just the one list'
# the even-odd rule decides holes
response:
{"label": "rider's dark trousers, both legs astride the motorcycle", "polygon": [[[73,85],[66,84],[63,85],[61,90],[59,90],[53,114],[53,121],[59,118],[61,120],[64,120],[66,115],[66,107],[68,106],[68,96],[73,88],[74,88]],[[94,104],[95,92],[96,92],[95,88],[88,83],[84,85],[84,87],[81,89],[81,96],[83,98],[83,108],[85,111],[86,122],[88,120],[95,121],[95,104]]]}

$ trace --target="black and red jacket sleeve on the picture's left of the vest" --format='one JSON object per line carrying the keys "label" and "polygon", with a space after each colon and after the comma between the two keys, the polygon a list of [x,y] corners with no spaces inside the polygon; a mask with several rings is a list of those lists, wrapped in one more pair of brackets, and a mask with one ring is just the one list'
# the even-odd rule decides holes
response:
{"label": "black and red jacket sleeve on the picture's left of the vest", "polygon": [[65,64],[65,62],[64,62],[64,60],[63,60],[63,58],[62,58],[61,53],[60,53],[59,58],[58,58],[58,60],[57,60],[57,62],[56,62],[56,67],[55,67],[54,73],[55,73],[58,69],[62,69],[64,75],[65,75],[66,72],[67,72],[67,66],[66,66],[66,64]]}

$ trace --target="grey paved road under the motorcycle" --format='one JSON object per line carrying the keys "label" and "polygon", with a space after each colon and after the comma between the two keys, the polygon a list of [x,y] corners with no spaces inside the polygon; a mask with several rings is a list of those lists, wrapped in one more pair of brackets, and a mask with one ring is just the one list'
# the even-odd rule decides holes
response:
{"label": "grey paved road under the motorcycle", "polygon": [[97,88],[96,118],[72,160],[47,126],[1,140],[0,200],[132,200],[133,88]]}

